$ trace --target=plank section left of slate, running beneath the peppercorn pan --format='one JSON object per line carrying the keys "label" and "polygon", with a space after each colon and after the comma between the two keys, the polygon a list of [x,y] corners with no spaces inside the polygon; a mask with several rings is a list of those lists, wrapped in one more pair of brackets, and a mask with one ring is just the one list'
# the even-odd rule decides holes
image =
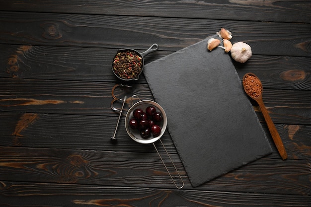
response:
{"label": "plank section left of slate, running beneath the peppercorn pan", "polygon": [[[106,48],[0,45],[0,65],[3,66],[0,76],[115,82],[117,78],[112,73],[111,62],[116,51]],[[144,59],[145,64],[168,53],[149,54]],[[140,78],[139,82],[146,83],[146,80]]]}

